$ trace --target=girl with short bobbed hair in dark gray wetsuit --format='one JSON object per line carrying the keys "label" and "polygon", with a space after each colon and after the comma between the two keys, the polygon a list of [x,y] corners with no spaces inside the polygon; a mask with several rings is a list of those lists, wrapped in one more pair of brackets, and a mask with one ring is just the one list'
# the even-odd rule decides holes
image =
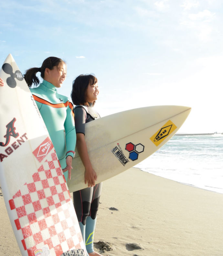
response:
{"label": "girl with short bobbed hair in dark gray wetsuit", "polygon": [[71,99],[76,105],[74,108],[77,135],[76,146],[85,167],[85,184],[88,183],[88,188],[73,192],[73,199],[82,237],[90,256],[101,255],[93,249],[93,235],[102,183],[95,185],[97,174],[91,166],[84,135],[85,123],[100,118],[93,108],[98,93],[98,80],[93,75],[80,75],[73,81]]}

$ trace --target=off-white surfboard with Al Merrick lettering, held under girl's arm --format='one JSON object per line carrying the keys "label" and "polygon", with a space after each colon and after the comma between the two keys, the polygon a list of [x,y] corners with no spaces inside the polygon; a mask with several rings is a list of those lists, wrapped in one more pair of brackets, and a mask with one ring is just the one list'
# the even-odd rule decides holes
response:
{"label": "off-white surfboard with Al Merrick lettering, held under girl's arm", "polygon": [[[85,126],[85,140],[97,183],[138,164],[162,147],[191,111],[185,106],[151,106],[96,119]],[[84,166],[75,150],[69,191],[86,188]],[[159,163],[157,163],[158,165]]]}

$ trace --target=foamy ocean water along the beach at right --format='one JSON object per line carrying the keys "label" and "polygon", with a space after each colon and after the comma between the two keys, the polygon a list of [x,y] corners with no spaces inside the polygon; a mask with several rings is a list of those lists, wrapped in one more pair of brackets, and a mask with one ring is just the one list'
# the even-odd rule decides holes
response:
{"label": "foamy ocean water along the beach at right", "polygon": [[223,194],[223,135],[175,135],[135,167]]}

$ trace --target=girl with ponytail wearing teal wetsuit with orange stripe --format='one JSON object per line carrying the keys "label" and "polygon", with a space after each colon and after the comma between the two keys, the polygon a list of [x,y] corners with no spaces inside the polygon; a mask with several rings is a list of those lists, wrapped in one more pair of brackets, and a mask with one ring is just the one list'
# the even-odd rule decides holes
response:
{"label": "girl with ponytail wearing teal wetsuit with orange stripe", "polygon": [[44,80],[38,87],[30,88],[30,91],[46,124],[67,181],[68,176],[69,178],[71,176],[76,132],[73,104],[66,96],[57,92],[57,88],[61,87],[66,78],[66,65],[57,57],[48,57],[41,67],[30,68],[26,71],[24,78],[28,87],[32,84],[35,86],[39,84],[37,72],[41,73]]}

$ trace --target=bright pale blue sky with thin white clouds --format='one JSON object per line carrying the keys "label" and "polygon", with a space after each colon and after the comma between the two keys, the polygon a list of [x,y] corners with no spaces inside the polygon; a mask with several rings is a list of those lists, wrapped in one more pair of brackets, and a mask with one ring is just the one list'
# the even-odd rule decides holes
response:
{"label": "bright pale blue sky with thin white clouds", "polygon": [[78,75],[95,74],[101,116],[183,105],[179,133],[223,132],[223,1],[7,0],[0,17],[2,64],[11,53],[24,74],[60,57],[68,97]]}

